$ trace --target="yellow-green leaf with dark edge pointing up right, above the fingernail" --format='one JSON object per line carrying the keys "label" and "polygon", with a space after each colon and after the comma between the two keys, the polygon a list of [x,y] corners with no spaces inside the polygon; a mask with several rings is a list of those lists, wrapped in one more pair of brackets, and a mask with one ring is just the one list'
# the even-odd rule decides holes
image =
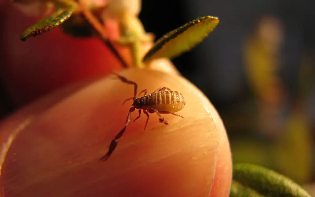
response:
{"label": "yellow-green leaf with dark edge pointing up right, above the fingernail", "polygon": [[214,16],[204,16],[186,23],[157,40],[144,56],[143,62],[162,57],[171,59],[187,52],[203,41],[218,23],[219,18]]}

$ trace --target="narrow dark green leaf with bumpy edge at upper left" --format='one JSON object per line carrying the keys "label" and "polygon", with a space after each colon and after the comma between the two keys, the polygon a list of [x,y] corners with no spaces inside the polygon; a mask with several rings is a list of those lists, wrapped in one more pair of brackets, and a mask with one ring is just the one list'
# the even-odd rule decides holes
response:
{"label": "narrow dark green leaf with bumpy edge at upper left", "polygon": [[25,41],[31,36],[37,36],[42,33],[48,32],[51,29],[60,26],[65,22],[73,13],[73,8],[58,9],[54,14],[37,22],[35,25],[28,28],[22,35],[21,40]]}

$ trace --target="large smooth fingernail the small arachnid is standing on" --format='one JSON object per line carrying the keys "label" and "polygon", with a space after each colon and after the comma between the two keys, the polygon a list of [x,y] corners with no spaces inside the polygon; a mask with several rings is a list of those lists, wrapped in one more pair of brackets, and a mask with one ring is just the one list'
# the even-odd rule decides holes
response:
{"label": "large smooth fingernail the small arachnid is standing on", "polygon": [[225,133],[211,103],[180,76],[146,69],[118,74],[149,92],[160,86],[180,91],[185,119],[165,115],[164,125],[150,114],[146,130],[143,117],[130,123],[113,154],[100,162],[125,124],[131,103],[121,101],[133,96],[131,85],[101,78],[50,106],[19,133],[2,166],[7,195],[209,195]]}

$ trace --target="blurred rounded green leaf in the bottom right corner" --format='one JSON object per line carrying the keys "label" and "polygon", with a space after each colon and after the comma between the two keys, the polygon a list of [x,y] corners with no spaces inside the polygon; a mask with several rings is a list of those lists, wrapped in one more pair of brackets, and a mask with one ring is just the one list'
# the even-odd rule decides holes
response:
{"label": "blurred rounded green leaf in the bottom right corner", "polygon": [[253,164],[233,166],[230,196],[311,197],[289,178]]}

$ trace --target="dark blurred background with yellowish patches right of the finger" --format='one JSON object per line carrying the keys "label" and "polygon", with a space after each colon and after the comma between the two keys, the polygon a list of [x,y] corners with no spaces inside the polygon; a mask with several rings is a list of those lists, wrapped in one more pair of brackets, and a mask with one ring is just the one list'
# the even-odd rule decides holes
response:
{"label": "dark blurred background with yellowish patches right of the finger", "polygon": [[[160,38],[204,15],[219,25],[173,62],[218,110],[233,162],[315,182],[315,1],[143,0],[140,19]],[[3,116],[14,110],[5,92]]]}

